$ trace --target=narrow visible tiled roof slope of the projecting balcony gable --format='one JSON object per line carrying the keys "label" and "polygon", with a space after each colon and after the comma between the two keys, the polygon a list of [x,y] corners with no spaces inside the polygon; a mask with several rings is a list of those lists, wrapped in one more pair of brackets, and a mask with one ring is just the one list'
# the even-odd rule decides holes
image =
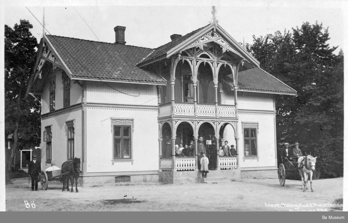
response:
{"label": "narrow visible tiled roof slope of the projecting balcony gable", "polygon": [[[208,24],[210,25],[210,24]],[[149,56],[147,56],[145,59],[143,59],[138,65],[140,64],[144,64],[150,61],[155,60],[156,58],[159,58],[161,56],[166,55],[166,53],[172,49],[173,47],[175,47],[176,45],[179,45],[181,42],[187,40],[188,38],[190,38],[192,35],[196,34],[197,32],[203,30],[205,27],[207,27],[208,25],[201,27],[195,31],[192,31],[186,35],[183,35],[180,38],[175,39],[174,41],[168,42],[163,46],[160,46],[158,48],[155,49],[155,51],[153,51]]]}

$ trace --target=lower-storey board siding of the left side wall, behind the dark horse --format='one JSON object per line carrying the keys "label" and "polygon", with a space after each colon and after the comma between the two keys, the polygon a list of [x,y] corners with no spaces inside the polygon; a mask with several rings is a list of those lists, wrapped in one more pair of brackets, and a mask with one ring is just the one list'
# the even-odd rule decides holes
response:
{"label": "lower-storey board siding of the left side wall, behind the dark horse", "polygon": [[66,121],[74,120],[75,129],[75,152],[74,157],[82,158],[82,127],[81,127],[81,109],[71,111],[65,114],[60,114],[55,117],[47,118],[41,121],[41,157],[42,157],[42,169],[45,170],[50,167],[50,164],[46,164],[46,142],[44,142],[44,131],[46,126],[51,126],[52,132],[52,162],[56,163],[55,166],[61,168],[63,162],[68,159],[68,128],[65,125]]}

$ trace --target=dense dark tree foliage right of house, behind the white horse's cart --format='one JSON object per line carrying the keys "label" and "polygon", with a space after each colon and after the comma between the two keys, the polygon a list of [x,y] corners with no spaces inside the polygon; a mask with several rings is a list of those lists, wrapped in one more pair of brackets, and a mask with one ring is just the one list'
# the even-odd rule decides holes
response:
{"label": "dense dark tree foliage right of house, behind the white horse's cart", "polygon": [[323,177],[343,175],[343,52],[333,54],[328,28],[317,22],[253,36],[247,50],[262,69],[298,91],[276,96],[277,142],[299,141],[318,156]]}

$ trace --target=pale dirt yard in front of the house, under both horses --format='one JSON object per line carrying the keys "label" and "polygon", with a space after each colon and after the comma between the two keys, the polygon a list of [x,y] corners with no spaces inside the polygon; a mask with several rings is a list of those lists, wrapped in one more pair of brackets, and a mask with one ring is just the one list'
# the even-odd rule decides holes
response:
{"label": "pale dirt yard in front of the house, under both horses", "polygon": [[46,191],[40,184],[39,191],[30,189],[27,178],[6,185],[6,211],[342,211],[325,204],[342,204],[343,178],[313,181],[314,192],[302,192],[300,181],[286,180],[282,187],[277,179],[86,184],[79,193],[62,192],[59,182],[50,181]]}

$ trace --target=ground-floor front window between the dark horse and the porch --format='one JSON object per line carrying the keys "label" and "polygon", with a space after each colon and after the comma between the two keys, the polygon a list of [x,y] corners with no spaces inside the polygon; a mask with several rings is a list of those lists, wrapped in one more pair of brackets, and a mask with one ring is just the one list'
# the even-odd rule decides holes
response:
{"label": "ground-floor front window between the dark horse and the porch", "polygon": [[132,158],[132,123],[132,119],[112,119],[114,160]]}

